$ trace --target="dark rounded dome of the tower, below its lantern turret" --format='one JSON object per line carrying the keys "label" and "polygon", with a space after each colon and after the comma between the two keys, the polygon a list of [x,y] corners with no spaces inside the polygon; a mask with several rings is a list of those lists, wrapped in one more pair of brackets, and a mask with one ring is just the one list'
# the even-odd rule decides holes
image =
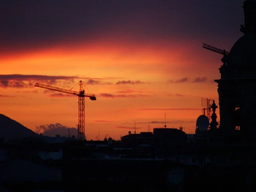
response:
{"label": "dark rounded dome of the tower, below its lantern turret", "polygon": [[245,34],[233,45],[228,55],[228,66],[256,67],[256,35]]}

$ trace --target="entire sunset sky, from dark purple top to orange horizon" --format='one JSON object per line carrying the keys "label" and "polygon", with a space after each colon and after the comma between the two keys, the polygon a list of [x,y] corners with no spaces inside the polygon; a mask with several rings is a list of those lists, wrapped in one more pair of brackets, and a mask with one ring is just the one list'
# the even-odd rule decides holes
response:
{"label": "entire sunset sky, from dark purple top to orange horizon", "polygon": [[[0,3],[0,113],[36,131],[76,127],[79,90],[87,139],[163,128],[193,133],[201,98],[215,99],[221,55],[243,34],[244,0],[4,0]],[[85,90],[88,93],[87,89]],[[218,113],[218,110],[217,110]],[[219,118],[218,118],[219,119]]]}

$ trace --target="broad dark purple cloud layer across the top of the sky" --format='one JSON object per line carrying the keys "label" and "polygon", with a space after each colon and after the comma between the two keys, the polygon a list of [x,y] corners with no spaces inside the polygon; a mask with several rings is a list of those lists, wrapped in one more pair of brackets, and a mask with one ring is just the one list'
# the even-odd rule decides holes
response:
{"label": "broad dark purple cloud layer across the top of the sky", "polygon": [[241,35],[243,1],[3,0],[0,51],[68,46],[67,41],[90,43],[100,38],[132,38],[140,44],[173,37],[214,41],[225,35],[223,26],[232,39]]}

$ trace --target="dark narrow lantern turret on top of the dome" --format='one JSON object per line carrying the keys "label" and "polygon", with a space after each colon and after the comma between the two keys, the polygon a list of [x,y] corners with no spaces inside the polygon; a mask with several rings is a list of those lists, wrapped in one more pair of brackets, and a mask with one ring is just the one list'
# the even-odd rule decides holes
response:
{"label": "dark narrow lantern turret on top of the dome", "polygon": [[256,0],[244,1],[244,34],[256,34]]}

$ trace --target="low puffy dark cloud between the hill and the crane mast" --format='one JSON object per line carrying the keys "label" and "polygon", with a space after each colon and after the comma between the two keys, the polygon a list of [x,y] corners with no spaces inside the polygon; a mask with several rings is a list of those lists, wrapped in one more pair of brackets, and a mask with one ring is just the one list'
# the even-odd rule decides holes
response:
{"label": "low puffy dark cloud between the hill and the crane mast", "polygon": [[44,136],[55,137],[56,135],[60,135],[61,137],[68,136],[68,130],[70,131],[70,136],[75,135],[77,137],[78,132],[74,127],[67,127],[61,125],[60,123],[49,124],[49,125],[39,125],[36,127],[36,133],[42,133]]}

